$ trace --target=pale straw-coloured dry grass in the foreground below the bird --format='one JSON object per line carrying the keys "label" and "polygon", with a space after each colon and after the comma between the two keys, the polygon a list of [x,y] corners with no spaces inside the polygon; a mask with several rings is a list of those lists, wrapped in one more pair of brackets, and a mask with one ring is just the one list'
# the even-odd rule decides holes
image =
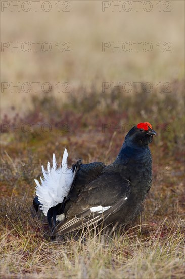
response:
{"label": "pale straw-coloured dry grass in the foreground below the bird", "polygon": [[[1,227],[2,277],[184,277],[182,221],[163,217],[158,224],[140,224],[126,231],[82,231],[52,241],[33,212],[31,217],[27,198],[8,202],[7,226]],[[12,216],[14,210],[24,211],[29,222]]]}

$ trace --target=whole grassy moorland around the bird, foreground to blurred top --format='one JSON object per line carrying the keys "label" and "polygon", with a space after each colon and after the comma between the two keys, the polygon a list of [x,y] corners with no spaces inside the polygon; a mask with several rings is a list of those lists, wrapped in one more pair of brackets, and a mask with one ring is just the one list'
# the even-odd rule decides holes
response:
{"label": "whole grassy moorland around the bird, foreground to blurred top", "polygon": [[[1,91],[2,278],[184,278],[184,2],[171,1],[169,13],[158,12],[157,2],[151,12],[102,12],[102,1],[71,1],[70,13],[2,12],[2,41],[49,41],[54,49],[1,53],[2,82],[52,85],[48,94],[40,87],[37,93],[34,87]],[[70,42],[71,51],[57,52],[59,41]],[[154,50],[102,52],[103,41],[150,41]],[[158,42],[170,42],[171,52],[159,52]],[[70,93],[58,93],[58,82],[69,82]],[[103,93],[103,82],[150,82],[153,90]],[[159,82],[170,83],[170,92],[165,86],[159,92]],[[140,218],[112,233],[50,239],[46,220],[32,208],[40,165],[54,152],[60,162],[65,147],[70,165],[79,158],[109,164],[129,127],[141,121],[158,136],[151,145],[153,185]]]}

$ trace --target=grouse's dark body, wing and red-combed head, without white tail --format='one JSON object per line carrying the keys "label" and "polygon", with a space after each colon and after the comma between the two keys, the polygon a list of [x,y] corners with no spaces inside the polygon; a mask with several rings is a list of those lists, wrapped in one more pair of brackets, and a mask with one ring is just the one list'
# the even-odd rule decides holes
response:
{"label": "grouse's dark body, wing and red-combed head, without white tail", "polygon": [[[143,126],[138,124],[126,135],[112,164],[77,162],[79,167],[69,194],[62,201],[62,207],[59,206],[60,210],[55,209],[55,216],[62,213],[64,218],[57,224],[54,222],[52,235],[100,221],[106,225],[125,224],[134,217],[152,184],[148,144],[152,142],[152,135],[156,135],[149,123],[140,124]],[[73,165],[73,170],[75,168]]]}

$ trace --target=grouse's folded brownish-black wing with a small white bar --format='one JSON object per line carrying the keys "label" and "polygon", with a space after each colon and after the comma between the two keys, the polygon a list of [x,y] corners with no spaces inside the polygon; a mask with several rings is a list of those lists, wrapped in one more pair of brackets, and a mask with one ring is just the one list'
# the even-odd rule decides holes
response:
{"label": "grouse's folded brownish-black wing with a small white bar", "polygon": [[78,198],[65,212],[65,219],[53,228],[52,235],[81,229],[117,212],[126,202],[131,191],[130,181],[119,173],[102,173],[85,185]]}

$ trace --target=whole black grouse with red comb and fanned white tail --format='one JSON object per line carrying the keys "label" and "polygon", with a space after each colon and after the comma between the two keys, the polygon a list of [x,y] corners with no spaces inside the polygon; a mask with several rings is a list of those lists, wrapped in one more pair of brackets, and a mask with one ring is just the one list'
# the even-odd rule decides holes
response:
{"label": "whole black grouse with red comb and fanned white tail", "polygon": [[136,215],[152,184],[152,156],[148,144],[157,135],[148,122],[139,123],[126,135],[116,160],[67,167],[65,149],[57,168],[42,166],[43,177],[36,182],[35,210],[48,218],[51,235],[64,234],[91,224],[126,224]]}

